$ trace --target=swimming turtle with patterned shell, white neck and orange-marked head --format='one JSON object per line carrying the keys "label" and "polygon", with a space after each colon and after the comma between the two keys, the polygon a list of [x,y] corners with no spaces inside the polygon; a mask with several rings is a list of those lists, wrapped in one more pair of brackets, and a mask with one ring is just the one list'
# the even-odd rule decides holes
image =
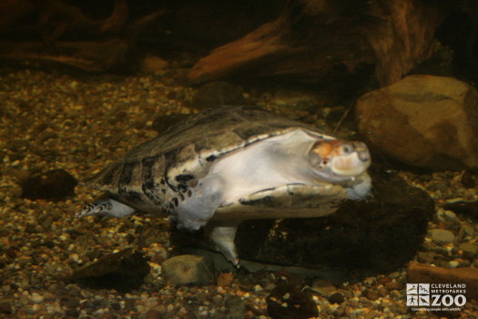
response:
{"label": "swimming turtle with patterned shell, white neck and orange-marked head", "polygon": [[370,196],[370,152],[269,111],[232,106],[191,115],[85,180],[107,198],[76,213],[168,214],[178,229],[204,227],[239,267],[241,221],[310,218]]}

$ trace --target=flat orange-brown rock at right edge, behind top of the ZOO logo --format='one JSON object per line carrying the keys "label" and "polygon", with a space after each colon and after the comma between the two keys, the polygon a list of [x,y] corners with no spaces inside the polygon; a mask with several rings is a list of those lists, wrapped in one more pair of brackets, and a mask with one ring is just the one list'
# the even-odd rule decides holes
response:
{"label": "flat orange-brown rock at right edge, behind top of the ZOO logo", "polygon": [[478,268],[447,269],[426,263],[411,262],[407,270],[408,283],[465,283],[466,299],[478,299]]}

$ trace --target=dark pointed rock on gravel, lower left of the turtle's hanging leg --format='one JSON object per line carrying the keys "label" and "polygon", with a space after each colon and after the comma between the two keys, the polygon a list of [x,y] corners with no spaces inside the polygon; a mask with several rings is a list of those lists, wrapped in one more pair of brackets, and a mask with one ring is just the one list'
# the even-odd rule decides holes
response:
{"label": "dark pointed rock on gravel, lower left of the turtle's hanging leg", "polygon": [[127,248],[76,269],[71,279],[87,287],[116,289],[127,293],[144,282],[149,270],[149,264],[143,255],[133,248]]}

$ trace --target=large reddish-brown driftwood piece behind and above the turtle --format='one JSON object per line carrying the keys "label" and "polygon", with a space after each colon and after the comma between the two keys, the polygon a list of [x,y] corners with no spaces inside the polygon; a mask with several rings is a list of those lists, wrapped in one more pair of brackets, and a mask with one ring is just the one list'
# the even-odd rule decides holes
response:
{"label": "large reddish-brown driftwood piece behind and above the turtle", "polygon": [[201,58],[188,77],[193,82],[224,77],[320,82],[374,65],[386,85],[430,56],[434,32],[446,16],[438,1],[345,4],[293,0],[277,20]]}

